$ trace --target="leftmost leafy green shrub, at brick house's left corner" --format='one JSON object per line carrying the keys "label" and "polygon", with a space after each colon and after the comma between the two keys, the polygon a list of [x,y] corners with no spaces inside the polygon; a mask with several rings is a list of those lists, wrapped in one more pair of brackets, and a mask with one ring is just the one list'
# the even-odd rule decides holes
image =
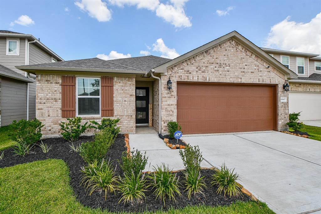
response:
{"label": "leftmost leafy green shrub, at brick house's left corner", "polygon": [[16,141],[20,146],[27,148],[36,143],[42,137],[42,122],[38,119],[34,120],[13,120],[11,124],[10,138]]}

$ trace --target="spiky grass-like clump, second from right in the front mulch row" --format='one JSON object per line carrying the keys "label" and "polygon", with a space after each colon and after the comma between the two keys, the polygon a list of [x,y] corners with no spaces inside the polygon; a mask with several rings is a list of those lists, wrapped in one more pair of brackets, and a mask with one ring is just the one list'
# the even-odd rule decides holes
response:
{"label": "spiky grass-like clump, second from right in the front mulch row", "polygon": [[206,187],[204,182],[204,177],[201,176],[201,172],[197,171],[196,169],[189,169],[184,171],[185,174],[185,180],[183,183],[185,184],[186,191],[187,191],[187,197],[188,199],[191,198],[192,193],[194,193],[194,196],[196,194],[202,194],[204,195],[203,191]]}

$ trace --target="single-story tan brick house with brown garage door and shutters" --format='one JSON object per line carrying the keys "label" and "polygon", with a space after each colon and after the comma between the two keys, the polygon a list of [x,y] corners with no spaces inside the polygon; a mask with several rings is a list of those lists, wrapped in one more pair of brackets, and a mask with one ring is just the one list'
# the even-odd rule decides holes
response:
{"label": "single-story tan brick house with brown garage door and shutters", "polygon": [[119,117],[128,133],[138,124],[166,133],[170,120],[184,134],[286,130],[283,85],[298,78],[236,31],[172,60],[89,58],[16,68],[37,75],[36,117],[44,135],[60,133],[60,121],[75,116]]}

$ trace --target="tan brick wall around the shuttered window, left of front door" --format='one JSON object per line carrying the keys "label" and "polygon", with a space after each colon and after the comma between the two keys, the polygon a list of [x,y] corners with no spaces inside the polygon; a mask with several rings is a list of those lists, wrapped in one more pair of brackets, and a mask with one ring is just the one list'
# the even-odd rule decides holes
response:
{"label": "tan brick wall around the shuttered window, left of front door", "polygon": [[[45,125],[43,135],[56,135],[61,132],[61,76],[38,74],[36,90],[36,117]],[[121,132],[135,133],[135,77],[114,77],[114,117],[121,120]],[[83,117],[83,122],[100,121],[101,117]],[[93,133],[87,129],[86,133]]]}

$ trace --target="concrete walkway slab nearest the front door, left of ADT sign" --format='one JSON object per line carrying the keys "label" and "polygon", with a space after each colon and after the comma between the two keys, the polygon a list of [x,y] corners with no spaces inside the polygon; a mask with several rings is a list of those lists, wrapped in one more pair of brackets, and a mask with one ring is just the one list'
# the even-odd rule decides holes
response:
{"label": "concrete walkway slab nearest the front door, left of ADT sign", "polygon": [[131,150],[170,150],[158,134],[130,134],[129,146]]}

